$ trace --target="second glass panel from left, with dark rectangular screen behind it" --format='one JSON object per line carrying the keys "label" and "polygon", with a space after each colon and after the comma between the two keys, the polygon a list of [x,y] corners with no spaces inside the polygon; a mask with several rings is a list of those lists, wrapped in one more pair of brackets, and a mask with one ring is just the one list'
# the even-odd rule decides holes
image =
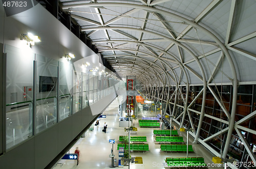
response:
{"label": "second glass panel from left, with dark rectangular screen behind it", "polygon": [[36,55],[36,133],[57,122],[58,61]]}

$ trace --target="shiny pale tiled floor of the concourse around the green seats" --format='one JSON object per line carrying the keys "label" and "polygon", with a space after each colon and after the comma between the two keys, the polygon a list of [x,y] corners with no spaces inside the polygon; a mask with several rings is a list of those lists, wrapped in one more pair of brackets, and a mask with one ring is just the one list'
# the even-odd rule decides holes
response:
{"label": "shiny pale tiled floor of the concourse around the green seats", "polygon": [[[80,150],[80,159],[79,164],[76,165],[75,160],[60,160],[59,164],[54,168],[110,168],[112,144],[109,143],[109,139],[115,138],[116,144],[114,145],[114,155],[118,159],[118,150],[117,143],[119,135],[128,135],[127,132],[124,132],[122,127],[119,127],[119,115],[118,115],[118,101],[117,99],[109,106],[108,109],[104,112],[106,115],[105,119],[100,119],[100,127],[97,131],[96,126],[94,126],[93,131],[87,131],[87,135],[84,138],[80,138],[78,142],[71,148],[70,153],[74,153],[75,148],[79,147]],[[144,113],[146,117],[153,117],[150,113]],[[142,114],[139,114],[141,119]],[[108,124],[108,131],[106,133],[102,132],[102,127],[104,122]],[[134,164],[131,163],[130,168],[132,169],[151,169],[151,168],[165,168],[163,166],[164,159],[166,157],[186,157],[186,153],[165,153],[160,150],[160,145],[154,143],[153,128],[140,128],[138,120],[134,122],[135,126],[138,127],[137,136],[146,136],[147,143],[149,145],[150,151],[148,152],[131,152],[132,157],[142,157],[143,164]],[[184,141],[186,142],[186,133],[179,132],[180,136],[183,136]],[[193,142],[193,139],[189,137],[189,144]],[[193,149],[195,153],[189,153],[189,157],[204,157],[205,163],[212,164],[213,155],[203,148],[200,144],[194,144]],[[124,166],[128,168],[128,166]],[[177,167],[178,168],[178,167]],[[184,168],[184,167],[183,167]],[[204,167],[205,168],[205,167]],[[215,167],[208,167],[215,168]],[[217,167],[216,167],[217,168]],[[219,167],[218,167],[219,168]]]}

